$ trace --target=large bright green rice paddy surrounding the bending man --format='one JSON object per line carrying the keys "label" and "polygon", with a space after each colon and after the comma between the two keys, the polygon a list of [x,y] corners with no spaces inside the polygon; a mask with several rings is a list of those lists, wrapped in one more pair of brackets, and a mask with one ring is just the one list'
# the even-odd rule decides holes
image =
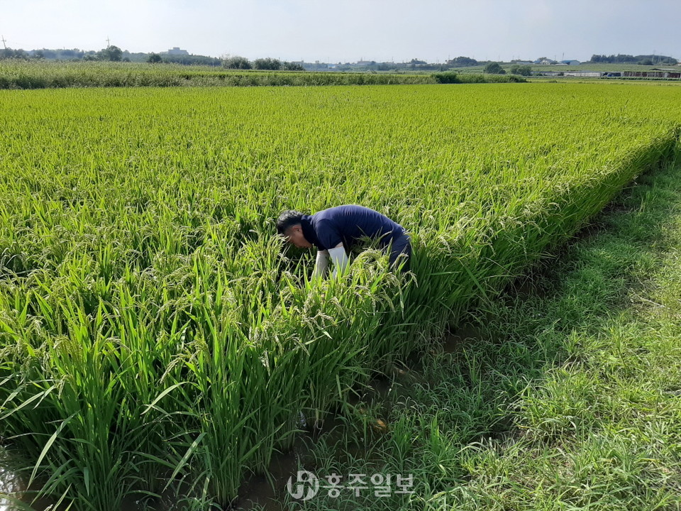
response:
{"label": "large bright green rice paddy surrounding the bending man", "polygon": [[[0,91],[17,473],[60,510],[227,509],[300,412],[342,409],[672,158],[679,105],[638,84]],[[274,219],[347,203],[411,232],[411,273],[367,249],[309,281]]]}

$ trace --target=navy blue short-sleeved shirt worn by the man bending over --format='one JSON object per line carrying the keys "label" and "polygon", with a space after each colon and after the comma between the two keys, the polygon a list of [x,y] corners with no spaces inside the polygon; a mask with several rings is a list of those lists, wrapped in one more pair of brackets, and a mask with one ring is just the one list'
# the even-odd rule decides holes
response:
{"label": "navy blue short-sleeved shirt worn by the man bending over", "polygon": [[323,209],[314,215],[303,215],[300,221],[303,236],[319,250],[343,243],[345,250],[363,236],[380,239],[387,246],[402,236],[404,228],[378,211],[355,204]]}

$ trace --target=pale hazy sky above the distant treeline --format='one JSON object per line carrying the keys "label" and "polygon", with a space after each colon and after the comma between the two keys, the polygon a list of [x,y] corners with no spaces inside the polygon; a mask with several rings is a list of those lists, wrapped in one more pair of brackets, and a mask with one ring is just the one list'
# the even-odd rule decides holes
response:
{"label": "pale hazy sky above the distant treeline", "polygon": [[9,48],[354,62],[681,58],[681,0],[0,0]]}

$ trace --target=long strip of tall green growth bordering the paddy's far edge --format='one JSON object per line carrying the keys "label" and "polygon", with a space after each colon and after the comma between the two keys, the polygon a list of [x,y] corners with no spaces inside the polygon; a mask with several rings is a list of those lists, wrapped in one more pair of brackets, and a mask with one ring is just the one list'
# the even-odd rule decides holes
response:
{"label": "long strip of tall green growth bordering the paddy's far edge", "polygon": [[[465,75],[448,83],[517,82],[518,77]],[[0,89],[61,87],[255,87],[262,85],[436,84],[435,75],[370,72],[223,70],[130,62],[0,62]]]}

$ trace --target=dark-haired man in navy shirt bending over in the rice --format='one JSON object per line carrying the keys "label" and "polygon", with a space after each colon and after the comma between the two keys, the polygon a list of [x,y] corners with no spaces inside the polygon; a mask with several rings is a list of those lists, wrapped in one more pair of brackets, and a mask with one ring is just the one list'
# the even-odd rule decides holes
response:
{"label": "dark-haired man in navy shirt bending over in the rice", "polygon": [[381,248],[390,249],[391,265],[409,270],[411,241],[404,227],[367,207],[336,206],[314,215],[283,211],[277,219],[277,231],[299,248],[317,247],[312,278],[326,272],[329,258],[333,261],[333,275],[343,272],[350,248],[365,236],[377,240]]}

